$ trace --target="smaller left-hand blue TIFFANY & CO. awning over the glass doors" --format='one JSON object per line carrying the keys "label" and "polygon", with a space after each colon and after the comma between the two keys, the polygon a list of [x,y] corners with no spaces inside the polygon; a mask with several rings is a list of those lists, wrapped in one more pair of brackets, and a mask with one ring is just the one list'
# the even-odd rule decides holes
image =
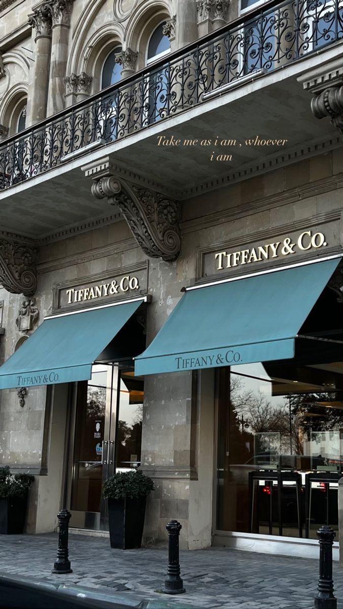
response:
{"label": "smaller left-hand blue TIFFANY & CO. awning over the glass doors", "polygon": [[96,357],[143,300],[46,317],[0,367],[0,389],[90,379]]}

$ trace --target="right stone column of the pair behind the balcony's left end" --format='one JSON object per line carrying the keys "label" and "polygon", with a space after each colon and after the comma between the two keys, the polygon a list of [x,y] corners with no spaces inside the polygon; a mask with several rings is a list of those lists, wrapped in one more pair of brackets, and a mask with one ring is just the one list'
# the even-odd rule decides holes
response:
{"label": "right stone column of the pair behind the balcony's left end", "polygon": [[64,108],[72,5],[73,0],[52,0],[49,4],[52,17],[52,42],[47,116],[56,114]]}

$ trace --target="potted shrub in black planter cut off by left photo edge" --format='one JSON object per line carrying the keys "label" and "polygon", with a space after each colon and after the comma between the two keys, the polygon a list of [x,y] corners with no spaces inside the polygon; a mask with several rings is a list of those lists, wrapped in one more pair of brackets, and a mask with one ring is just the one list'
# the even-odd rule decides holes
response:
{"label": "potted shrub in black planter cut off by left photo edge", "polygon": [[27,492],[34,481],[30,474],[11,474],[9,466],[0,467],[0,534],[23,533]]}

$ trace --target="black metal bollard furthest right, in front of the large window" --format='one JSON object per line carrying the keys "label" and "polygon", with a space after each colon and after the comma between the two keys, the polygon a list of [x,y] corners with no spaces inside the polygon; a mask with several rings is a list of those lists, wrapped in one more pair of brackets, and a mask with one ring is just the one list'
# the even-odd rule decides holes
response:
{"label": "black metal bollard furthest right, in front of the large window", "polygon": [[337,599],[333,596],[332,546],[336,533],[327,525],[317,531],[319,538],[319,580],[318,594],[314,599],[315,609],[337,609]]}

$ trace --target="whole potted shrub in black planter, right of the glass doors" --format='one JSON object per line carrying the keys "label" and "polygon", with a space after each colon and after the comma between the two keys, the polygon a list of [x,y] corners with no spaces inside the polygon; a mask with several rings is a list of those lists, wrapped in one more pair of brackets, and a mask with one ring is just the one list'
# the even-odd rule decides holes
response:
{"label": "whole potted shrub in black planter, right of the glass doors", "polygon": [[154,483],[140,470],[118,471],[103,484],[109,509],[110,547],[129,550],[142,544],[146,497]]}

